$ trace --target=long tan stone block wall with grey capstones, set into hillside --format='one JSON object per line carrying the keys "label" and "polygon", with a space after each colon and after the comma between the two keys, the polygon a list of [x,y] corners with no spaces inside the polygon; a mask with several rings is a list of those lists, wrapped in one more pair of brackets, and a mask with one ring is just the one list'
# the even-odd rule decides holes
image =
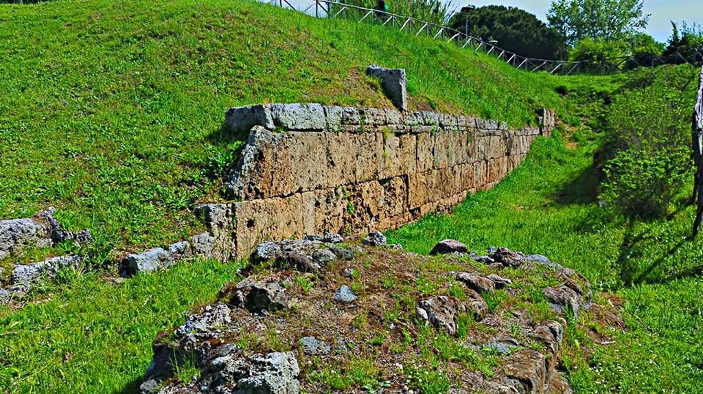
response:
{"label": "long tan stone block wall with grey capstones, set into hillside", "polygon": [[554,114],[509,129],[475,117],[392,109],[271,104],[232,108],[226,126],[250,131],[225,178],[217,234],[232,256],[269,239],[361,234],[444,211],[515,169]]}

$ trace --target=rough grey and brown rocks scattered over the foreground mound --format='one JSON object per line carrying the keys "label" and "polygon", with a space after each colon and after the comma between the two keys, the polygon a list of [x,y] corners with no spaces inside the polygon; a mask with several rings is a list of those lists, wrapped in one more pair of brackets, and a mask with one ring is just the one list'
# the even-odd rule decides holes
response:
{"label": "rough grey and brown rocks scattered over the foreground mound", "polygon": [[[324,239],[324,237],[322,238]],[[379,237],[373,235],[371,238]],[[371,242],[368,243],[371,244]],[[370,245],[366,247],[368,253],[387,253],[379,250],[378,247]],[[311,256],[316,256],[319,255],[319,253],[316,254],[319,251],[325,251],[325,254],[329,252],[329,254],[335,255],[335,258],[339,258],[337,257],[339,254],[335,253],[337,249],[342,248],[325,244],[317,237],[307,237],[302,241],[266,242],[257,247],[259,256],[278,256],[278,259],[281,258],[280,256],[296,254],[309,258],[302,253],[307,252]],[[269,251],[273,252],[269,254]],[[393,253],[402,254],[401,251]],[[465,252],[462,253],[462,256],[467,256]],[[516,264],[517,257],[521,254],[509,249],[498,248],[492,251],[492,255],[501,261],[498,264],[503,267],[503,263]],[[451,258],[450,256],[447,258]],[[352,253],[349,261],[353,262],[355,258],[356,254]],[[309,261],[312,259],[309,258]],[[257,259],[252,258],[252,263],[257,263]],[[528,261],[523,263],[527,264],[528,270],[532,269]],[[288,267],[292,267],[292,265],[291,263]],[[562,284],[543,289],[545,296],[554,303],[558,302],[560,306],[566,304],[568,308],[576,306],[581,309],[587,308],[586,300],[590,297],[588,281],[574,270],[568,268],[557,270],[555,265],[548,266],[553,268],[551,275],[559,278]],[[281,268],[288,269],[288,267]],[[326,269],[325,265],[321,265],[316,275],[324,277]],[[356,277],[353,268],[340,268],[340,270],[347,277]],[[449,272],[449,276],[453,280],[465,284],[465,297],[462,297],[461,300],[454,296],[445,295],[420,298],[415,310],[417,322],[432,324],[436,329],[446,331],[451,336],[457,336],[461,315],[473,315],[477,324],[489,325],[505,318],[491,313],[482,294],[489,294],[495,289],[511,286],[512,280],[494,273],[484,275],[468,270]],[[269,277],[280,280],[280,275],[276,273],[272,273]],[[562,294],[567,296],[562,296]],[[371,297],[373,299],[373,295]],[[330,295],[330,299],[344,304],[353,303],[358,298],[352,289],[344,284]],[[294,302],[299,303],[304,300],[295,298]],[[285,293],[285,288],[277,282],[243,280],[238,284],[226,284],[219,293],[217,303],[200,308],[198,313],[190,315],[184,324],[172,331],[172,334],[164,333],[157,337],[157,341],[154,343],[153,360],[141,385],[141,393],[297,394],[301,386],[298,381],[300,368],[296,354],[304,355],[304,357],[343,357],[345,352],[353,351],[350,349],[359,346],[359,344],[354,343],[352,339],[335,335],[334,331],[329,331],[333,327],[325,326],[307,328],[316,332],[315,335],[297,336],[294,334],[295,343],[291,343],[291,345],[292,348],[297,348],[299,353],[247,353],[234,343],[226,341],[233,332],[249,331],[252,327],[250,324],[261,325],[262,328],[254,329],[254,332],[263,332],[259,331],[266,330],[267,324],[263,324],[263,322],[271,319],[274,319],[271,321],[277,322],[276,327],[285,330],[285,326],[278,324],[282,324],[285,315],[295,314],[297,310],[296,308],[288,309],[290,303],[291,300]],[[357,310],[360,307],[361,305],[354,305],[350,310]],[[339,304],[333,308],[339,310],[340,313],[342,310],[347,310],[347,308],[341,308]],[[276,314],[276,311],[281,309],[288,310],[283,315]],[[243,317],[239,314],[235,318],[235,313],[238,310],[246,310],[246,313],[250,313],[246,316],[250,317]],[[567,310],[562,308],[559,313],[560,316],[565,316]],[[516,312],[515,316],[515,319],[520,319],[520,313]],[[563,317],[558,318],[563,319]],[[471,375],[473,376],[471,378],[473,386],[470,387],[470,390],[453,387],[450,392],[470,393],[477,390],[485,393],[571,393],[568,383],[560,377],[557,371],[559,350],[564,338],[564,326],[560,322],[551,320],[534,323],[523,322],[522,324],[524,334],[515,338],[500,334],[483,342],[467,343],[465,345],[467,348],[501,357],[501,363],[490,379],[482,374]],[[396,329],[396,324],[391,324],[389,329]],[[322,335],[318,336],[318,334]],[[200,374],[194,376],[191,381],[171,379],[178,370],[178,365],[186,362],[185,360],[195,362],[195,367],[200,370]],[[471,372],[467,373],[471,374]],[[397,392],[409,394],[410,390],[404,388],[404,390]]]}

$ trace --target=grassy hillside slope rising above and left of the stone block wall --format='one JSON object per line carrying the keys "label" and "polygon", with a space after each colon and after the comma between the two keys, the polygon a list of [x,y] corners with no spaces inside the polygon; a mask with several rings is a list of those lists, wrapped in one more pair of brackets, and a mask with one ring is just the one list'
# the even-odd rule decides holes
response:
{"label": "grassy hillside slope rising above and left of the stone block wall", "polygon": [[[429,38],[252,1],[0,6],[0,218],[46,205],[89,227],[93,262],[199,230],[238,141],[229,106],[389,106],[365,67],[404,67],[412,103],[524,124],[566,111],[558,79]],[[520,88],[517,88],[520,86]],[[113,252],[114,253],[114,252]]]}

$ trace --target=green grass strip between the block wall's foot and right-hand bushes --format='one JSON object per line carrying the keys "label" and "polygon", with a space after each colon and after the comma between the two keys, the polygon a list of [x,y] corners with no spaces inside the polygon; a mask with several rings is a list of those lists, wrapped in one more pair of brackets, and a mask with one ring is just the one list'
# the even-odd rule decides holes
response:
{"label": "green grass strip between the block wall's foot and right-hand bushes", "polygon": [[576,268],[596,290],[624,298],[627,326],[590,359],[565,355],[577,393],[703,393],[703,239],[687,239],[695,209],[650,222],[613,216],[594,191],[600,138],[582,131],[574,140],[570,148],[561,136],[539,139],[496,188],[451,215],[389,232],[388,242],[427,254],[439,239],[454,238],[479,251],[510,247]]}

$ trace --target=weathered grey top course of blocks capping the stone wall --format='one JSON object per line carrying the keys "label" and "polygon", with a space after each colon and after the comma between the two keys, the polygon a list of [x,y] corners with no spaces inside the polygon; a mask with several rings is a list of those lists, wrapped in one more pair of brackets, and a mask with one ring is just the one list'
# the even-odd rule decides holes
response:
{"label": "weathered grey top course of blocks capping the stone wall", "polygon": [[[540,126],[553,126],[553,112],[541,109]],[[430,111],[398,111],[392,108],[354,108],[321,104],[259,104],[233,107],[225,114],[226,127],[235,133],[253,126],[286,131],[335,131],[341,126],[438,126],[508,131],[508,124],[472,116],[454,116]]]}

